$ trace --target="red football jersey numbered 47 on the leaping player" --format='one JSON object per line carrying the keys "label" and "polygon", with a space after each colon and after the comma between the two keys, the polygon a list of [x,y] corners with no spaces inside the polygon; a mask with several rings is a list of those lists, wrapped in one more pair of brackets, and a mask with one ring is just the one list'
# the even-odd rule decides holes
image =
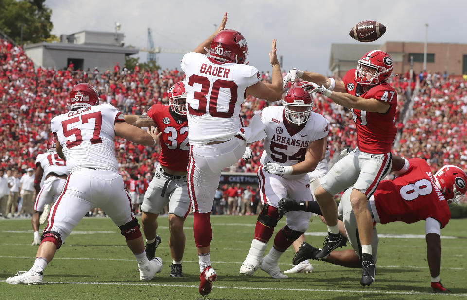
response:
{"label": "red football jersey numbered 47 on the leaping player", "polygon": [[395,127],[395,111],[397,109],[397,93],[388,83],[378,84],[363,92],[363,87],[355,82],[355,69],[347,71],[342,79],[347,93],[365,99],[374,98],[391,104],[388,112],[367,112],[352,108],[352,117],[357,126],[357,146],[367,153],[391,152],[397,128]]}

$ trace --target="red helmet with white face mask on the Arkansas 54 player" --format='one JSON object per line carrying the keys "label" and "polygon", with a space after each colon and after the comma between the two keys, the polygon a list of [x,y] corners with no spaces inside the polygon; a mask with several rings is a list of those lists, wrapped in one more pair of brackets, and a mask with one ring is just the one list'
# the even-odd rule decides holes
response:
{"label": "red helmet with white face mask on the Arkansas 54 player", "polygon": [[287,91],[284,100],[284,115],[286,119],[295,124],[303,124],[310,118],[313,109],[313,98],[303,88],[294,87]]}

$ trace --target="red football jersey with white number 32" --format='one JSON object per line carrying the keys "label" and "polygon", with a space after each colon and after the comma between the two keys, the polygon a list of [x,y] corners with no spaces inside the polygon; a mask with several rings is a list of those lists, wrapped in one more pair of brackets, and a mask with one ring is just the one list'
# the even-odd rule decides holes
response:
{"label": "red football jersey with white number 32", "polygon": [[147,115],[154,120],[156,127],[162,132],[159,142],[161,153],[159,163],[174,171],[186,171],[188,166],[188,121],[169,110],[170,106],[155,104],[149,108]]}

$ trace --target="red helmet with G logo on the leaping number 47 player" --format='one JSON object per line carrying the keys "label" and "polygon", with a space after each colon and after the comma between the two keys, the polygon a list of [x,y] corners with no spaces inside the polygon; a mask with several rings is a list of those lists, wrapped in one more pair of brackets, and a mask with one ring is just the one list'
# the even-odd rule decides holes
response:
{"label": "red helmet with G logo on the leaping number 47 player", "polygon": [[388,79],[393,72],[393,60],[388,53],[372,50],[357,62],[355,82],[362,86],[377,85]]}

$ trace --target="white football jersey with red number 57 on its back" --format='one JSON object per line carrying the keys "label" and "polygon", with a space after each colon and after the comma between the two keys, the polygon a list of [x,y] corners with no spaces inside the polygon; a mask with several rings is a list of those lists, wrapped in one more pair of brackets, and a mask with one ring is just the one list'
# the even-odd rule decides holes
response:
{"label": "white football jersey with red number 57 on its back", "polygon": [[125,122],[125,119],[109,103],[69,111],[50,121],[50,129],[57,133],[70,172],[81,168],[117,172],[115,122]]}

